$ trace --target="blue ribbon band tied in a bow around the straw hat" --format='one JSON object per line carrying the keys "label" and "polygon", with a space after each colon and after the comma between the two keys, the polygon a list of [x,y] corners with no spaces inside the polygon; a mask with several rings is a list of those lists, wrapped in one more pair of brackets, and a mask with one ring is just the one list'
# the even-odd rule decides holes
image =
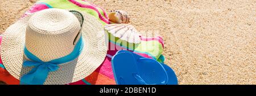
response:
{"label": "blue ribbon band tied in a bow around the straw hat", "polygon": [[24,55],[26,55],[27,58],[31,61],[23,62],[23,66],[34,66],[34,68],[32,68],[30,72],[20,78],[20,84],[43,85],[49,72],[57,71],[57,69],[59,69],[59,64],[75,60],[81,54],[83,47],[84,42],[82,41],[82,37],[80,37],[80,40],[76,43],[75,48],[73,49],[71,54],[68,54],[67,56],[64,56],[62,58],[53,59],[49,62],[43,62],[34,54],[30,53],[30,51],[28,51],[25,46]]}

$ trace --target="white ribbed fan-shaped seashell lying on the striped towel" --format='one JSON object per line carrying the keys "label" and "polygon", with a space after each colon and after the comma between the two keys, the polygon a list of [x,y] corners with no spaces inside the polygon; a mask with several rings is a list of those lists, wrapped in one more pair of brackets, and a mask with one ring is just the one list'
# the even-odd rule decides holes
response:
{"label": "white ribbed fan-shaped seashell lying on the striped towel", "polygon": [[113,36],[125,40],[130,43],[141,43],[140,34],[129,24],[109,24],[105,25],[105,30],[108,30],[109,33]]}

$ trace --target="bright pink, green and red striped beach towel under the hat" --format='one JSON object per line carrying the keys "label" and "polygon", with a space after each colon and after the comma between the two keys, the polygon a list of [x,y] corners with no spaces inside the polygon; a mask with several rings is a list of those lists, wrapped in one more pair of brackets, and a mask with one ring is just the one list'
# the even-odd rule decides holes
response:
{"label": "bright pink, green and red striped beach towel under the hat", "polygon": [[[103,8],[93,5],[85,0],[40,0],[35,3],[22,17],[27,16],[33,12],[44,10],[46,8],[62,8],[68,10],[84,11],[94,16],[102,25],[109,24],[109,18]],[[2,37],[0,36],[0,45]],[[136,54],[142,55],[146,58],[158,60],[158,62],[164,62],[164,56],[162,55],[164,42],[161,37],[146,38],[141,37],[142,42],[138,45],[122,41],[119,38],[109,34],[109,50],[104,62],[100,67],[96,69],[91,75],[84,79],[73,82],[68,85],[115,85],[114,75],[112,70],[111,59],[112,56],[117,53],[118,50],[130,50]],[[131,46],[133,45],[133,46]],[[146,48],[146,49],[145,49]],[[5,69],[0,58],[0,81],[6,82],[6,84],[16,85],[19,84],[19,80],[11,76]]]}

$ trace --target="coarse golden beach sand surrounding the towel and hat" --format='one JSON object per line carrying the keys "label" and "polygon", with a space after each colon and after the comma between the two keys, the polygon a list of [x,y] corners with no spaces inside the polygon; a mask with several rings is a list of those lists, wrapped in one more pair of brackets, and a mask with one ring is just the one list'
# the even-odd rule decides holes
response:
{"label": "coarse golden beach sand surrounding the towel and hat", "polygon": [[[1,0],[0,32],[31,1]],[[166,45],[165,63],[175,70],[179,84],[256,84],[256,1],[92,2],[107,11],[129,12],[131,24],[142,32],[159,31]]]}

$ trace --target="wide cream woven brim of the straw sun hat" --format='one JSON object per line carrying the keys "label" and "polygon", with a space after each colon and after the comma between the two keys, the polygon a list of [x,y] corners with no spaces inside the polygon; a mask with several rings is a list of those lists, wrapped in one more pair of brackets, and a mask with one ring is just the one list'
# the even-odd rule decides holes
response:
{"label": "wide cream woven brim of the straw sun hat", "polygon": [[[34,13],[35,14],[35,13]],[[80,56],[68,63],[60,64],[59,69],[50,72],[44,84],[68,84],[82,80],[95,71],[105,60],[108,50],[108,34],[100,21],[92,15],[84,16],[81,33],[84,49]],[[2,34],[1,58],[7,71],[18,80],[31,71],[32,67],[23,67],[26,58],[23,55],[26,28],[33,14],[19,19]]]}

